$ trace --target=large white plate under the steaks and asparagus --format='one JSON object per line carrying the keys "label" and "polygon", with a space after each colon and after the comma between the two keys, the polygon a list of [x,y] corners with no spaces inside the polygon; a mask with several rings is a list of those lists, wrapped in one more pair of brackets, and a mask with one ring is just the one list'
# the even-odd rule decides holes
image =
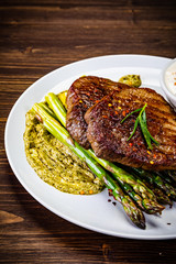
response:
{"label": "large white plate under the steaks and asparagus", "polygon": [[25,113],[34,102],[41,101],[46,92],[68,89],[70,84],[82,75],[118,80],[127,74],[140,74],[143,87],[151,87],[163,95],[160,73],[168,61],[142,55],[89,58],[58,68],[26,89],[13,106],[6,127],[7,156],[23,187],[57,216],[97,232],[131,239],[176,238],[175,205],[172,209],[166,208],[161,217],[145,215],[146,230],[140,230],[131,223],[120,204],[113,206],[108,202],[107,190],[94,196],[75,196],[61,193],[45,184],[28,164],[23,144]]}

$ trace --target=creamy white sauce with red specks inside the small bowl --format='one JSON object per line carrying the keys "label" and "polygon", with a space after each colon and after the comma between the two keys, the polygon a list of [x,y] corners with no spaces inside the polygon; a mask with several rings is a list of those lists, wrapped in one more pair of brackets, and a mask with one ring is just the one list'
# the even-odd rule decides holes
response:
{"label": "creamy white sauce with red specks inside the small bowl", "polygon": [[164,79],[167,89],[176,96],[176,62],[167,68]]}

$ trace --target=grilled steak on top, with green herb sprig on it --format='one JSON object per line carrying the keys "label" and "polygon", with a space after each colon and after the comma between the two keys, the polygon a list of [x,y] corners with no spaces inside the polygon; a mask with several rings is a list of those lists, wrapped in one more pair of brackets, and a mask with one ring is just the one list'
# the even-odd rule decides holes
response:
{"label": "grilled steak on top, with green herb sprig on it", "polygon": [[[127,141],[139,112],[121,123],[128,113],[145,103],[147,129],[160,143],[152,143],[153,150],[147,148],[140,125]],[[92,106],[85,119],[87,138],[97,156],[144,169],[176,169],[176,113],[154,90],[123,88],[119,92],[112,91]]]}

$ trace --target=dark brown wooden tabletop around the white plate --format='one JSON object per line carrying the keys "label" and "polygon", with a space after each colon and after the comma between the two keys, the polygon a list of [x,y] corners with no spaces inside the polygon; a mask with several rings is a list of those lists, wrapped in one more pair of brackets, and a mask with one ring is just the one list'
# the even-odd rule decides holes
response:
{"label": "dark brown wooden tabletop around the white plate", "polygon": [[22,92],[53,69],[108,54],[176,57],[175,1],[0,1],[0,263],[176,263],[176,240],[113,238],[56,217],[6,156],[7,118]]}

